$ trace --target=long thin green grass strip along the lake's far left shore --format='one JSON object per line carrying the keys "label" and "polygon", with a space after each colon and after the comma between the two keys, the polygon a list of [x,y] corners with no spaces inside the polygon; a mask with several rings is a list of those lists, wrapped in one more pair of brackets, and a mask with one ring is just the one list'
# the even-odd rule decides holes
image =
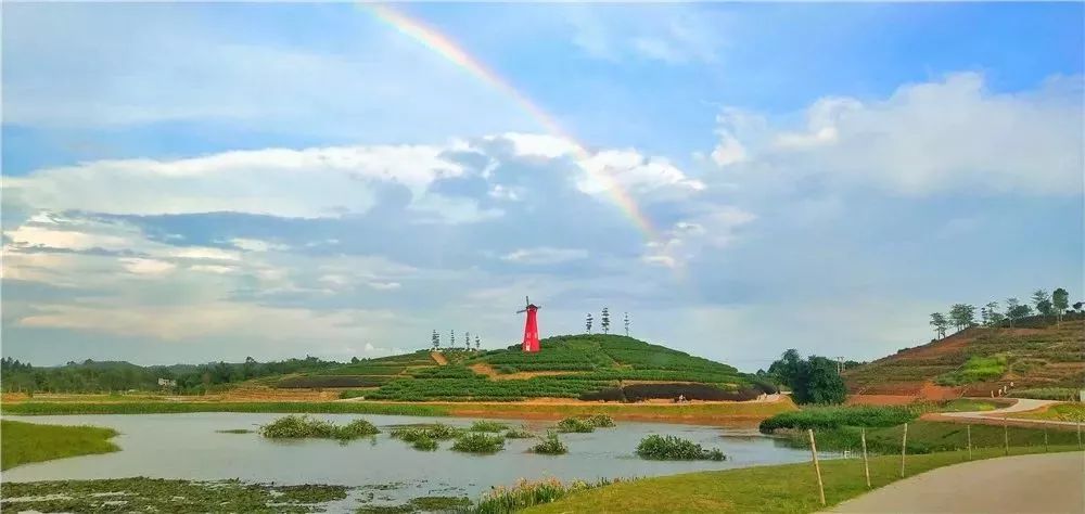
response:
{"label": "long thin green grass strip along the lake's far left shore", "polygon": [[449,415],[445,406],[369,402],[250,401],[250,402],[174,402],[145,401],[126,403],[35,402],[2,406],[4,414],[175,414],[186,412],[267,412],[286,414],[395,414]]}

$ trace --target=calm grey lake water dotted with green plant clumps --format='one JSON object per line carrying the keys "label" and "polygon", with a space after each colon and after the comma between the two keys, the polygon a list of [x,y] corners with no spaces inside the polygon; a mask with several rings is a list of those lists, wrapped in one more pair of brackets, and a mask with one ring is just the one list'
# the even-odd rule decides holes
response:
{"label": "calm grey lake water dotted with green plant clumps", "polygon": [[[345,445],[333,440],[271,440],[259,434],[220,434],[216,431],[257,429],[284,414],[186,413],[136,415],[50,415],[4,416],[30,423],[107,426],[120,433],[113,441],[122,451],[25,464],[3,473],[5,480],[31,481],[146,476],[277,484],[337,484],[376,486],[378,500],[398,501],[420,496],[467,496],[477,499],[492,486],[511,486],[519,478],[557,477],[562,480],[646,477],[677,473],[726,470],[762,464],[809,460],[805,450],[779,445],[755,429],[720,428],[665,423],[617,421],[614,428],[597,428],[591,434],[562,434],[569,446],[564,455],[537,455],[527,449],[535,439],[509,439],[506,449],[493,455],[451,451],[451,441],[441,449],[418,451],[392,439],[394,425],[445,423],[469,426],[469,419],[419,417],[368,414],[314,414],[314,417],[345,424],[363,417],[383,433],[372,439]],[[502,421],[510,426],[518,421]],[[545,434],[552,421],[525,422],[529,429]],[[676,435],[706,448],[719,448],[723,462],[647,461],[634,454],[640,439],[649,434]],[[831,457],[831,455],[826,455]]]}

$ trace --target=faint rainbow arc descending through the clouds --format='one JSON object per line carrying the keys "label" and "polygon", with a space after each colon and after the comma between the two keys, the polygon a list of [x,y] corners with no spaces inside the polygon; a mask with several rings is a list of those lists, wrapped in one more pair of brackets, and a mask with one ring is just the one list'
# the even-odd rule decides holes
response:
{"label": "faint rainbow arc descending through the clouds", "polygon": [[417,20],[407,17],[403,13],[386,5],[370,3],[361,5],[372,12],[378,20],[388,24],[400,34],[418,41],[448,62],[467,69],[482,81],[514,100],[532,118],[541,125],[547,132],[551,136],[561,138],[571,145],[571,153],[573,154],[574,160],[576,160],[586,174],[599,181],[599,183],[603,184],[605,190],[609,191],[613,197],[614,203],[617,204],[626,216],[633,220],[637,228],[644,233],[649,242],[659,240],[659,235],[652,227],[651,221],[647,216],[644,216],[643,211],[641,211],[637,202],[634,201],[631,195],[629,195],[629,192],[623,189],[622,184],[614,180],[614,178],[611,177],[604,169],[592,170],[591,168],[586,167],[584,163],[591,157],[591,154],[584,147],[583,144],[577,142],[576,139],[569,134],[569,132],[563,130],[553,116],[549,115],[546,111],[536,105],[535,102],[532,102],[531,99],[521,93],[520,90],[509,83],[508,80],[502,79],[499,75],[488,69],[477,59],[469,55],[463,51],[463,49],[445,35]]}

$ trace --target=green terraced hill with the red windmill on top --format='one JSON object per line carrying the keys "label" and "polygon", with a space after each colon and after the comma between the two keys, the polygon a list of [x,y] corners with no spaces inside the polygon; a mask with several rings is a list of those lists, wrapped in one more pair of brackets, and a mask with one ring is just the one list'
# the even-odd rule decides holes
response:
{"label": "green terraced hill with the red windmill on top", "polygon": [[283,388],[363,388],[347,397],[400,401],[519,401],[528,398],[637,400],[752,399],[735,368],[620,335],[542,339],[538,354],[518,346],[470,351],[420,350],[285,377]]}

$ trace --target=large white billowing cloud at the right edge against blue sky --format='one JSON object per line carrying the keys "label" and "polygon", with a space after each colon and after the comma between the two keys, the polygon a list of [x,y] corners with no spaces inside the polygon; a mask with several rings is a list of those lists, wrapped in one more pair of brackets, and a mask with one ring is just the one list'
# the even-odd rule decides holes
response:
{"label": "large white billowing cloud at the right edge against blue sky", "polygon": [[722,116],[720,166],[749,162],[783,175],[824,175],[893,193],[993,191],[1081,194],[1082,77],[995,93],[959,73],[901,87],[884,100],[826,98],[805,128]]}

